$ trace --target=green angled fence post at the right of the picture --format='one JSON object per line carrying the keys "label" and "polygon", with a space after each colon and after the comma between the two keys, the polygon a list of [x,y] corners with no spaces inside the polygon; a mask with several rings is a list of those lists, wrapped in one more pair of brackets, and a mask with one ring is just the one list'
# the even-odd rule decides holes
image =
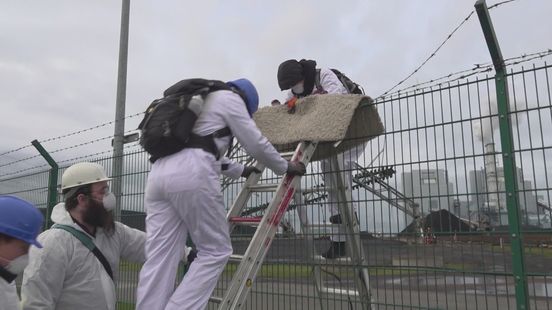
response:
{"label": "green angled fence post at the right of the picture", "polygon": [[512,245],[512,267],[515,279],[517,309],[529,309],[527,278],[523,259],[523,238],[518,204],[518,185],[516,179],[516,162],[512,126],[510,124],[510,104],[508,98],[508,80],[502,52],[496,38],[489,10],[485,0],[477,0],[475,9],[489,53],[495,68],[496,98],[498,105],[498,123],[500,142],[502,144],[502,160],[504,163],[504,183],[506,187],[506,207],[508,210],[508,227]]}

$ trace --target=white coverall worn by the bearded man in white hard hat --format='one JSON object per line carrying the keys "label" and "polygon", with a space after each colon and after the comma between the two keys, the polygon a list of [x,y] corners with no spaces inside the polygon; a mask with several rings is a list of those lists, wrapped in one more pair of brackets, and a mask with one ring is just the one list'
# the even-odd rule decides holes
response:
{"label": "white coverall worn by the bearded man in white hard hat", "polygon": [[[73,222],[63,203],[52,212],[54,223],[84,230]],[[85,232],[86,233],[86,232]],[[113,235],[102,228],[90,236],[105,256],[115,281],[119,261],[143,262],[145,233],[115,222]],[[29,266],[23,273],[21,302],[24,310],[115,309],[115,284],[96,256],[82,242],[62,229],[48,229],[38,236],[42,249],[31,247]]]}

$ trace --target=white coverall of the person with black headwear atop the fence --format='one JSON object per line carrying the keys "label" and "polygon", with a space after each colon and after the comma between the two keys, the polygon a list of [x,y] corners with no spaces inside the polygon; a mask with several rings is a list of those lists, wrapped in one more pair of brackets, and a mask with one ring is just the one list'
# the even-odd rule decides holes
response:
{"label": "white coverall of the person with black headwear atop the fence", "polygon": [[[323,88],[323,91],[328,94],[348,94],[349,92],[343,86],[343,83],[337,78],[335,73],[333,73],[332,70],[327,68],[321,68],[320,69],[320,86]],[[314,85],[314,88],[312,90],[311,94],[317,94],[320,93],[321,90],[317,89],[316,84]],[[287,94],[287,100],[291,99],[294,96],[294,94],[291,92],[291,90]],[[358,146],[355,148],[352,148],[350,150],[347,150],[343,153],[337,154],[337,160],[339,164],[341,165],[341,169],[345,171],[344,173],[344,181],[345,185],[351,189],[353,177],[352,177],[352,169],[354,168],[354,163],[358,160],[358,157],[364,152],[365,145]],[[330,206],[330,213],[331,215],[339,214],[339,208],[338,208],[338,195],[336,192],[337,188],[337,171],[339,170],[338,167],[333,167],[331,165],[331,159],[323,159],[320,162],[320,169],[322,170],[322,176],[324,178],[324,182],[326,183],[326,189],[328,191],[328,205]],[[333,172],[332,172],[333,171]],[[301,208],[299,211],[300,216],[306,216],[306,210],[305,208]],[[303,219],[305,221],[306,219]],[[305,221],[308,222],[308,221]],[[330,236],[330,239],[335,242],[342,242],[346,241],[346,231],[343,225],[338,225],[338,232],[337,234],[332,234]]]}

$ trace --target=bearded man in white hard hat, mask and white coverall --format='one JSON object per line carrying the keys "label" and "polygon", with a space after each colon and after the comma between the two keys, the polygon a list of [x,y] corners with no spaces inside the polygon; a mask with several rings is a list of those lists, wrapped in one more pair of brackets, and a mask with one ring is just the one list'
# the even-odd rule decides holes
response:
{"label": "bearded man in white hard hat, mask and white coverall", "polygon": [[[102,166],[89,162],[72,165],[63,174],[65,203],[54,207],[55,225],[38,237],[43,248],[29,253],[21,287],[24,310],[115,309],[119,262],[143,262],[146,236],[113,220],[115,196],[109,180]],[[73,233],[91,240],[101,253],[92,252]]]}

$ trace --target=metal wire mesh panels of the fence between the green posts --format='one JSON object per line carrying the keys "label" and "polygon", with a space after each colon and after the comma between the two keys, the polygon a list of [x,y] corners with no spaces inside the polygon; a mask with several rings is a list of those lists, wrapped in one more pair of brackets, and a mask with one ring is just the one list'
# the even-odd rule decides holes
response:
{"label": "metal wire mesh panels of the fence between the green posts", "polygon": [[[531,309],[552,309],[550,67],[546,62],[524,64],[508,74],[516,196]],[[343,171],[352,180],[351,203],[362,231],[374,308],[515,309],[494,78],[479,74],[440,81],[395,92],[378,99],[376,106],[385,133],[370,140],[359,158],[345,158],[357,164]],[[10,155],[13,158],[14,153]],[[242,149],[232,157],[249,160]],[[95,161],[111,171],[112,158],[106,154],[78,160]],[[64,163],[60,177],[69,164]],[[363,308],[354,296],[321,295],[313,280],[318,266],[325,285],[354,289],[358,270],[339,260],[313,259],[326,251],[337,234],[336,225],[329,223],[330,188],[320,165],[309,165],[301,181],[304,192],[296,195],[283,217],[246,309]],[[0,173],[0,194],[17,195],[45,209],[48,171],[42,169],[46,168],[11,174],[4,173],[5,168]],[[129,147],[123,175],[116,176],[123,184],[120,220],[141,230],[149,169],[147,154]],[[271,172],[263,173],[261,182],[277,181]],[[229,206],[243,180],[223,178],[221,184]],[[270,193],[253,194],[243,215],[262,215],[271,199]],[[298,212],[305,212],[312,224],[308,238]],[[243,253],[253,233],[248,227],[232,232],[235,253]],[[214,295],[224,294],[236,267],[227,265]],[[140,268],[121,263],[119,309],[134,308]],[[185,271],[181,266],[179,279]]]}

